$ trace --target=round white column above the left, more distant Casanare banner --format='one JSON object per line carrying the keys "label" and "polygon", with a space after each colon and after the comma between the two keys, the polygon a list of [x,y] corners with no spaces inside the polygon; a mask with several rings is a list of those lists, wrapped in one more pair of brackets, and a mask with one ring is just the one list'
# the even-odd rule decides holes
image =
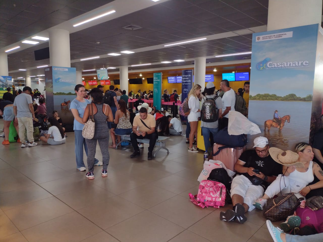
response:
{"label": "round white column above the left, more distant Casanare banner", "polygon": [[50,66],[71,67],[69,32],[64,29],[49,29]]}

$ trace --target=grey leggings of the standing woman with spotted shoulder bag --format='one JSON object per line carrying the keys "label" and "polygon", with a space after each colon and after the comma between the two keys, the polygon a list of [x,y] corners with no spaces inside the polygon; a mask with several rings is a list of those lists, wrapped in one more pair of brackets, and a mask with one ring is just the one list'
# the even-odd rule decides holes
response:
{"label": "grey leggings of the standing woman with spotted shoulder bag", "polygon": [[93,139],[85,139],[86,145],[88,146],[88,168],[89,172],[94,170],[94,156],[97,147],[97,141],[102,154],[103,170],[106,170],[109,165],[110,155],[109,155],[109,132],[94,134]]}

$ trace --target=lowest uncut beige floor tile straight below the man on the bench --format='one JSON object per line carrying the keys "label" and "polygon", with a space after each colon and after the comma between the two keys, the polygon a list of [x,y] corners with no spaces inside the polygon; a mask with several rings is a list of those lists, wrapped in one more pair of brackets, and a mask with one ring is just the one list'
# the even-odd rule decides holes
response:
{"label": "lowest uncut beige floor tile straight below the man on the bench", "polygon": [[119,196],[140,207],[148,209],[176,196],[176,194],[156,186],[144,185],[136,187],[128,192],[121,193]]}

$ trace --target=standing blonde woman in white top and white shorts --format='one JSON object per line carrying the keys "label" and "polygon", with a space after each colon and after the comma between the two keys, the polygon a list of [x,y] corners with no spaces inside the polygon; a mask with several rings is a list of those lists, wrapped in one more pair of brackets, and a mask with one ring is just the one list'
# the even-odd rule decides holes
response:
{"label": "standing blonde woman in white top and white shorts", "polygon": [[194,135],[197,137],[197,121],[200,117],[200,101],[198,99],[198,96],[201,94],[201,86],[198,84],[195,84],[191,91],[188,94],[188,107],[190,109],[190,114],[187,116],[187,121],[190,123],[191,126],[191,132],[190,132],[190,145],[188,147],[188,151],[191,152],[198,152],[196,148],[193,147],[193,140]]}

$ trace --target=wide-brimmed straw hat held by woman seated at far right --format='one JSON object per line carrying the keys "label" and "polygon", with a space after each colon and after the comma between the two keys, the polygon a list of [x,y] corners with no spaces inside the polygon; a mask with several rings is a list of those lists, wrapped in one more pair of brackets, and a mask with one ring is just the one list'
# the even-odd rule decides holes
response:
{"label": "wide-brimmed straw hat held by woman seated at far right", "polygon": [[299,156],[293,151],[271,147],[269,148],[269,154],[277,163],[281,165],[304,167],[302,162],[297,162]]}

